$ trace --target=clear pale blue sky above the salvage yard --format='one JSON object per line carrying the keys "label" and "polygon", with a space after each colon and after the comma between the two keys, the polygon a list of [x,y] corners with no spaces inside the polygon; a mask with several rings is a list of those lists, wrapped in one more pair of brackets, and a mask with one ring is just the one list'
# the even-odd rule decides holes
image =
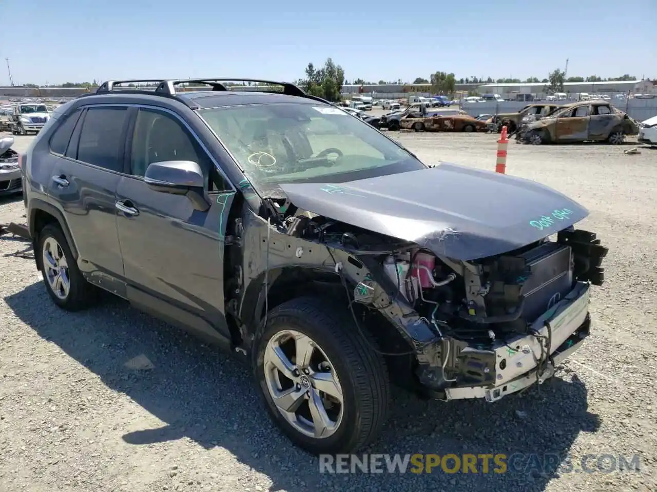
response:
{"label": "clear pale blue sky above the salvage yard", "polygon": [[350,81],[543,78],[566,58],[572,76],[657,77],[657,0],[0,0],[0,18],[14,83],[296,81],[328,56]]}

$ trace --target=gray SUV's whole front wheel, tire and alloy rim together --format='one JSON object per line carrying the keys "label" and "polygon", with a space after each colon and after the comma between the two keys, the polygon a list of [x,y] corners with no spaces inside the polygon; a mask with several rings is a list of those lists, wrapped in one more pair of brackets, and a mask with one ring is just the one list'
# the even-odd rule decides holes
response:
{"label": "gray SUV's whole front wheel, tire and alloy rim together", "polygon": [[351,453],[386,419],[388,371],[365,336],[346,310],[312,297],[277,306],[258,331],[254,371],[267,411],[310,453]]}

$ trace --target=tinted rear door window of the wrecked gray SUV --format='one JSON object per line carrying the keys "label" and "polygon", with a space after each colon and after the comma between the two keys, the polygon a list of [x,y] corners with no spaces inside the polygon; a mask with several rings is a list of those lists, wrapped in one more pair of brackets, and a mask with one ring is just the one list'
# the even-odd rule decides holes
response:
{"label": "tinted rear door window of the wrecked gray SUV", "polygon": [[127,108],[89,108],[82,122],[78,161],[124,172],[124,129]]}

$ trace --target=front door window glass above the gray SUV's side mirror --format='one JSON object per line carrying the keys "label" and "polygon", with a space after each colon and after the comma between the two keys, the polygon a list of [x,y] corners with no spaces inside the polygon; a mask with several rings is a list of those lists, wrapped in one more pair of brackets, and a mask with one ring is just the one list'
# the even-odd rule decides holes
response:
{"label": "front door window glass above the gray SUV's side mirror", "polygon": [[148,165],[162,161],[198,163],[208,192],[230,188],[179,119],[166,112],[140,108],[133,131],[130,173],[143,178]]}

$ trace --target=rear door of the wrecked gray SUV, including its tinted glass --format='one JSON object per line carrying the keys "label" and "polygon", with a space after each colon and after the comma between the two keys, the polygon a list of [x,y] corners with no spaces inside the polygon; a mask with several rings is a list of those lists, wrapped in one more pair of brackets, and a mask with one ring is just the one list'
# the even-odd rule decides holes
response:
{"label": "rear door of the wrecked gray SUV, including its tinted glass", "polygon": [[79,267],[93,283],[119,295],[124,294],[117,281],[123,276],[123,260],[114,195],[124,171],[127,123],[127,106],[90,106],[62,122],[49,142],[58,158],[48,194],[62,207]]}

